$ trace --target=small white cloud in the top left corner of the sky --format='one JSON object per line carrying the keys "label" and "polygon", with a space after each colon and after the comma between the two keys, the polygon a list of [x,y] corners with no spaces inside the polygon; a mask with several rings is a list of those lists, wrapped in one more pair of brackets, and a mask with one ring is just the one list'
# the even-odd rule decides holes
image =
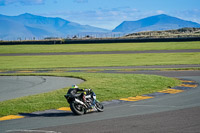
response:
{"label": "small white cloud in the top left corner of the sky", "polygon": [[22,5],[43,4],[45,0],[0,0],[0,6],[19,3]]}

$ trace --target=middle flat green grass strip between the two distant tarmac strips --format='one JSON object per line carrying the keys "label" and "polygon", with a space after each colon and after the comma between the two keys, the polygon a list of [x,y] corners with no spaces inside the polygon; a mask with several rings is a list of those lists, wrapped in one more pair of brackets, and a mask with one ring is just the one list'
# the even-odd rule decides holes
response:
{"label": "middle flat green grass strip between the two distant tarmac strips", "polygon": [[0,70],[93,66],[200,64],[200,53],[0,56]]}

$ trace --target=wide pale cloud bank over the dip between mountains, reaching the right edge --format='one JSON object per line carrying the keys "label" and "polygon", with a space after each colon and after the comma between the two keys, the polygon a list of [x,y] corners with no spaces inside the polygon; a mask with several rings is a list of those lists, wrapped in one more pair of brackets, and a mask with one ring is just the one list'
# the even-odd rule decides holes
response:
{"label": "wide pale cloud bank over the dip between mountains, reaching the right edge", "polygon": [[88,11],[62,11],[48,14],[40,14],[49,17],[61,17],[79,24],[91,25],[106,29],[114,29],[123,21],[136,21],[145,17],[167,14],[184,20],[200,23],[200,10],[166,12],[163,10],[142,11],[130,7],[119,7],[113,9],[99,8]]}

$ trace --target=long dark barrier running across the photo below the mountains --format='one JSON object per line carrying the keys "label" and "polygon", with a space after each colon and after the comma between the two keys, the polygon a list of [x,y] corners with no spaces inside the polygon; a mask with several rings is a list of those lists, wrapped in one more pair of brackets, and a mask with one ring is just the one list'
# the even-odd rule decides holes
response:
{"label": "long dark barrier running across the photo below the mountains", "polygon": [[0,45],[18,45],[18,44],[87,44],[87,43],[128,43],[128,42],[183,42],[200,41],[200,37],[189,38],[107,38],[107,39],[63,39],[63,40],[33,40],[33,41],[0,41]]}

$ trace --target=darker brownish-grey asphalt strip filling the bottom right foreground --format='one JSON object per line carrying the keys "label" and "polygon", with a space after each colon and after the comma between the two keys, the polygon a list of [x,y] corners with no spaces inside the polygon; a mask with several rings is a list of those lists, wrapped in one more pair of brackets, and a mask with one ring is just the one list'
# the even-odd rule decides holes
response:
{"label": "darker brownish-grey asphalt strip filling the bottom right foreground", "polygon": [[[137,108],[137,106],[135,106]],[[199,133],[200,107],[42,128],[62,133]]]}

